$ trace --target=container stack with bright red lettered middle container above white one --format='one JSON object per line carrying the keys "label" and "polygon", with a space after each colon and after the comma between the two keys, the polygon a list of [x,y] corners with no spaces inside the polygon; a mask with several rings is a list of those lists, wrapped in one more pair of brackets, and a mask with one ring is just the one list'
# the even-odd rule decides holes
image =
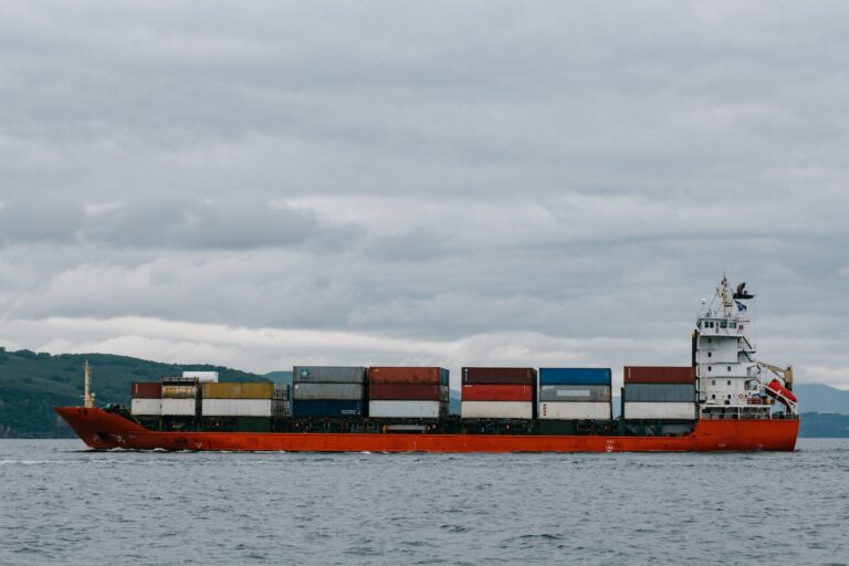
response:
{"label": "container stack with bright red lettered middle container above white one", "polygon": [[460,417],[463,419],[533,419],[536,369],[464,367]]}

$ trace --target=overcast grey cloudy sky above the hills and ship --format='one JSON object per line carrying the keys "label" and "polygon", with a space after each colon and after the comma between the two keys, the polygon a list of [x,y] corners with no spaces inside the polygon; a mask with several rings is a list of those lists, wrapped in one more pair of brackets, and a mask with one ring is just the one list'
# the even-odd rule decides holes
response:
{"label": "overcast grey cloudy sky above the hills and ship", "polygon": [[849,3],[590,4],[1,3],[0,345],[849,388]]}

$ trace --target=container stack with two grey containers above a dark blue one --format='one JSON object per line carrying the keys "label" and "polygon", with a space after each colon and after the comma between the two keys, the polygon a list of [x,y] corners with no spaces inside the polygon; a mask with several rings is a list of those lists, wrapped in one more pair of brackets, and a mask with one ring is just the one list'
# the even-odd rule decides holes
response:
{"label": "container stack with two grey containers above a dark blue one", "polygon": [[293,417],[361,417],[365,367],[292,368]]}

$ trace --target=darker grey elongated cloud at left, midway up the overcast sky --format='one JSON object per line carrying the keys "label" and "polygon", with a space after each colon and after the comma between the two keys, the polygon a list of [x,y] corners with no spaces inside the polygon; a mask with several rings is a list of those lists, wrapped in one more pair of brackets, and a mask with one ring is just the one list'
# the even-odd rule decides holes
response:
{"label": "darker grey elongated cloud at left, midway up the overcast sky", "polygon": [[0,209],[0,241],[157,249],[334,249],[356,241],[356,226],[328,226],[310,210],[262,201],[255,195],[192,200],[128,196],[123,202],[83,203],[67,198],[31,200]]}

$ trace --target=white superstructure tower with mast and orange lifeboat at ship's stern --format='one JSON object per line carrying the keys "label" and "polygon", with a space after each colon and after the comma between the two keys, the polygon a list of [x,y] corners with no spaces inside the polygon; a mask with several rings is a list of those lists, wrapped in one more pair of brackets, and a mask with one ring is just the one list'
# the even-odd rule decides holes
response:
{"label": "white superstructure tower with mast and orange lifeboat at ship's stern", "polygon": [[753,298],[745,283],[732,293],[723,276],[714,300],[696,319],[693,363],[702,417],[771,418],[773,399],[784,403],[788,412],[797,412],[796,399],[789,391],[792,369],[755,359],[748,315]]}

